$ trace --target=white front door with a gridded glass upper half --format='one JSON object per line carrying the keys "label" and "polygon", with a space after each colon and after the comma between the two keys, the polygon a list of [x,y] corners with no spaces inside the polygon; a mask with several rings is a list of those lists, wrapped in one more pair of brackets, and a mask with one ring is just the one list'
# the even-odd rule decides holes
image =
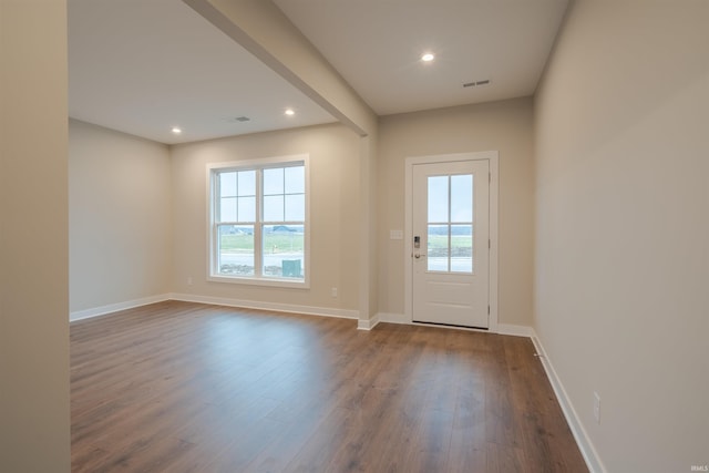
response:
{"label": "white front door with a gridded glass upper half", "polygon": [[490,162],[412,169],[412,319],[489,328]]}

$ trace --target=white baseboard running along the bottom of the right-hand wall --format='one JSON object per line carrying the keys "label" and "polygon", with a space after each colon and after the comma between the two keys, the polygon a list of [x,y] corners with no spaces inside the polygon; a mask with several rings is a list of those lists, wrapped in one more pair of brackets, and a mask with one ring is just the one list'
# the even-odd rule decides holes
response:
{"label": "white baseboard running along the bottom of the right-hand wall", "polygon": [[566,390],[564,389],[564,384],[562,380],[556,374],[556,370],[554,370],[554,366],[552,364],[552,360],[549,360],[546,354],[546,350],[544,350],[544,346],[542,341],[537,337],[534,329],[532,329],[532,342],[534,343],[534,348],[536,349],[537,354],[540,354],[540,360],[542,361],[542,366],[544,367],[544,371],[546,372],[546,377],[552,384],[552,389],[554,390],[554,394],[556,394],[556,400],[562,407],[562,411],[564,412],[564,417],[566,418],[566,423],[574,435],[574,440],[576,440],[576,444],[580,450],[580,454],[584,456],[586,461],[586,466],[592,473],[605,473],[606,469],[600,461],[600,456],[596,449],[594,448],[586,429],[584,429],[584,424],[582,423],[576,410],[574,409],[574,404],[572,400],[568,398]]}

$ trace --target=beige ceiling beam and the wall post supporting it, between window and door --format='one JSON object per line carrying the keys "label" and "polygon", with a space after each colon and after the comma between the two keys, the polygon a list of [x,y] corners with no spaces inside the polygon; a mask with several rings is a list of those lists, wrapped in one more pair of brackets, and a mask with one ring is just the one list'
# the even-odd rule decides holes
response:
{"label": "beige ceiling beam and the wall post supporting it, between window and door", "polygon": [[274,2],[184,1],[361,136],[358,310],[361,326],[369,327],[376,313],[379,287],[378,254],[371,236],[377,227],[377,115]]}

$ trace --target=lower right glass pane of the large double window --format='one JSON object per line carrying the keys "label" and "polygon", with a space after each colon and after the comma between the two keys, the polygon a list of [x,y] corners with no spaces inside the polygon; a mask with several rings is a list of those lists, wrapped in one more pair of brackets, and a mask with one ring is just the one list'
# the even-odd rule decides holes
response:
{"label": "lower right glass pane of the large double window", "polygon": [[264,225],[264,276],[305,278],[305,233],[302,225]]}

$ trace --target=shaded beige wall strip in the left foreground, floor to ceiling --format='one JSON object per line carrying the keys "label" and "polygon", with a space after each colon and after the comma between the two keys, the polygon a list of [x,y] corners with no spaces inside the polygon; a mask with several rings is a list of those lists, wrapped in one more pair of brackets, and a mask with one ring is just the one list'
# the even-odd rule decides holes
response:
{"label": "shaded beige wall strip in the left foreground, floor to ceiling", "polygon": [[0,471],[69,472],[66,4],[0,2]]}

